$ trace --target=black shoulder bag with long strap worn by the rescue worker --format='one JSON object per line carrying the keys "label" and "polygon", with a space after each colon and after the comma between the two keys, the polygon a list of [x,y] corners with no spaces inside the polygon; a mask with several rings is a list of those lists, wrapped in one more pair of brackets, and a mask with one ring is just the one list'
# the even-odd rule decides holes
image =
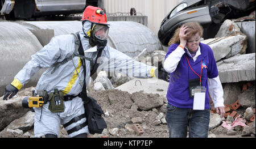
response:
{"label": "black shoulder bag with long strap worn by the rescue worker", "polygon": [[[78,35],[79,41],[80,41],[80,36]],[[84,56],[84,50],[82,49],[82,44],[80,42],[79,44],[79,54]],[[98,56],[97,58],[99,57]],[[98,65],[96,65],[97,67]],[[88,129],[90,134],[101,134],[104,128],[107,127],[106,122],[104,118],[102,117],[102,114],[104,114],[103,110],[101,109],[100,105],[98,105],[97,101],[93,99],[93,97],[88,97],[87,92],[86,92],[86,66],[85,66],[85,59],[82,59],[82,67],[84,69],[84,86],[82,87],[82,92],[81,92],[81,98],[82,101],[84,101],[84,108],[85,108],[85,114],[86,114],[86,121],[88,122]],[[97,68],[94,67],[93,70],[97,70]]]}

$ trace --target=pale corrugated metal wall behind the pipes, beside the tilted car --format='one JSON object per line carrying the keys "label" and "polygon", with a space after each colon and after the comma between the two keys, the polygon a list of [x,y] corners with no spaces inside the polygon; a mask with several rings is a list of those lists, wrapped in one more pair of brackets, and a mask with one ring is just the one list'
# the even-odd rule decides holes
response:
{"label": "pale corrugated metal wall behind the pipes, beside the tilted car", "polygon": [[130,12],[135,8],[137,13],[148,16],[147,27],[157,35],[162,20],[179,2],[181,0],[104,0],[104,8],[107,13]]}

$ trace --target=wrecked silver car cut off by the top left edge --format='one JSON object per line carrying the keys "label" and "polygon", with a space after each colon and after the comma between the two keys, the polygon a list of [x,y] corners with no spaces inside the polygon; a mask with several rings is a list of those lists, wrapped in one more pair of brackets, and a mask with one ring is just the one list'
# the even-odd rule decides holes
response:
{"label": "wrecked silver car cut off by the top left edge", "polygon": [[101,7],[101,0],[0,0],[0,15],[15,20],[79,14],[89,5]]}

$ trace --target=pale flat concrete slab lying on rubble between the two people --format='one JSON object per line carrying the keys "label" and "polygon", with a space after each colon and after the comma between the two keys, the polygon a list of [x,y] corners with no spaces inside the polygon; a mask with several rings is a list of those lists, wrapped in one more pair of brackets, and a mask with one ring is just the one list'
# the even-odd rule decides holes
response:
{"label": "pale flat concrete slab lying on rubble between the two people", "polygon": [[158,93],[159,95],[166,96],[168,86],[169,82],[157,78],[135,78],[115,89],[129,93],[143,91],[144,93]]}

